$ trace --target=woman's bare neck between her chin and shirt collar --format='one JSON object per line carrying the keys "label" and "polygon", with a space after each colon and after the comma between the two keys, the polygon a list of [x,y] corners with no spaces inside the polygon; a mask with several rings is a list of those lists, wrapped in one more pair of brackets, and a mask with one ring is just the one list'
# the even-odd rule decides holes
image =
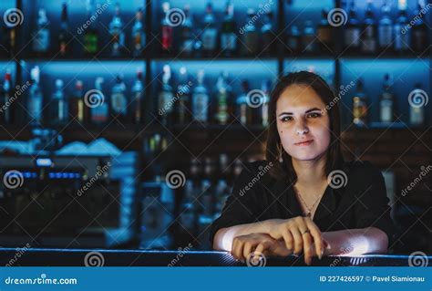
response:
{"label": "woman's bare neck between her chin and shirt collar", "polygon": [[325,154],[312,161],[299,161],[293,159],[293,169],[297,174],[297,183],[314,187],[327,180],[325,175]]}

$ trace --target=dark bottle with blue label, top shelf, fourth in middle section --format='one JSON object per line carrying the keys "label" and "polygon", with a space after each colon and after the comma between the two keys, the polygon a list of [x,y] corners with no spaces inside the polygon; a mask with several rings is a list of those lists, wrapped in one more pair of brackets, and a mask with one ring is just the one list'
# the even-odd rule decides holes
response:
{"label": "dark bottle with blue label, top shelf, fourth in middle section", "polygon": [[221,25],[221,51],[226,57],[235,54],[237,48],[236,24],[234,20],[234,6],[227,1],[225,16]]}

